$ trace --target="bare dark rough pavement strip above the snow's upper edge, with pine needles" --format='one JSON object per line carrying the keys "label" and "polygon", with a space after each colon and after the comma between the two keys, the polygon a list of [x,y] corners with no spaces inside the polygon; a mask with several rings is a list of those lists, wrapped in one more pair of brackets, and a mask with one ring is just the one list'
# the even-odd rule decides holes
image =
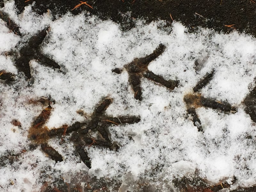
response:
{"label": "bare dark rough pavement strip above the snow's upper edge, with pine needles", "polygon": [[[88,0],[93,9],[83,4],[73,11],[79,0],[30,0],[26,3],[15,0],[19,12],[34,1],[34,8],[39,14],[47,12],[47,9],[59,16],[68,11],[79,14],[86,10],[103,20],[111,19],[120,23],[124,30],[134,26],[133,18],[144,18],[148,22],[160,18],[171,25],[171,13],[174,20],[191,30],[202,26],[226,33],[234,29],[225,25],[235,24],[233,27],[236,30],[256,35],[256,0]],[[123,17],[126,12],[130,12],[130,15]]]}

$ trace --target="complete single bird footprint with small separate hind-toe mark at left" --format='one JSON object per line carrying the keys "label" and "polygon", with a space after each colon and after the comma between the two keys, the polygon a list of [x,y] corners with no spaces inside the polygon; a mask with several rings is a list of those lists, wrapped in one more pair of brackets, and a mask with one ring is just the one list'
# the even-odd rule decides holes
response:
{"label": "complete single bird footprint with small separate hind-toe mark at left", "polygon": [[[162,76],[154,74],[152,71],[148,70],[148,64],[155,60],[159,55],[161,55],[165,50],[165,46],[160,44],[156,50],[149,54],[146,57],[142,58],[135,58],[131,63],[124,66],[126,71],[129,74],[129,82],[132,86],[132,90],[134,91],[134,98],[137,100],[142,100],[141,95],[141,86],[140,86],[140,79],[141,77],[145,77],[148,80],[155,81],[156,83],[162,84],[166,88],[173,90],[175,87],[178,86],[180,81],[177,80],[165,80]],[[117,74],[122,72],[121,69],[115,68],[112,70]]]}

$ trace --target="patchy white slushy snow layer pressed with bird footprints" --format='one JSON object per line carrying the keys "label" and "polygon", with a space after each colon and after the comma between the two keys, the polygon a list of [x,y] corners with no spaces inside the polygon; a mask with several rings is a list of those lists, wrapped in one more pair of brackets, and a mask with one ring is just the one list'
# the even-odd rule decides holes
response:
{"label": "patchy white slushy snow layer pressed with bird footprints", "polygon": [[[119,191],[135,190],[138,182],[147,183],[152,191],[178,190],[172,181],[183,176],[202,178],[209,185],[228,182],[231,190],[256,184],[255,123],[243,103],[255,86],[256,41],[252,36],[204,28],[191,34],[175,21],[171,28],[163,28],[161,21],[145,24],[138,20],[135,28],[122,32],[116,23],[87,13],[52,21],[50,11],[39,16],[27,6],[17,15],[13,1],[5,3],[2,11],[20,27],[22,36],[0,20],[0,70],[16,75],[14,83],[0,84],[0,151],[5,159],[0,167],[1,190],[43,191],[46,183],[53,186],[61,178],[86,187],[95,176],[122,183]],[[32,78],[26,81],[8,52],[18,51],[45,27],[50,29],[41,52],[57,62],[61,71],[31,60]],[[128,73],[112,70],[151,54],[160,43],[166,49],[148,69],[166,80],[179,80],[179,86],[170,91],[142,78],[142,100],[135,100]],[[237,112],[196,108],[203,127],[198,132],[183,98],[213,69],[212,80],[199,92],[204,98],[231,104]],[[63,157],[55,163],[40,147],[29,149],[28,130],[47,107],[30,101],[43,96],[56,101],[45,124],[49,129],[86,121],[77,110],[89,117],[106,96],[113,100],[106,110],[108,116],[135,115],[141,120],[109,127],[111,141],[120,147],[117,152],[84,146],[91,169],[80,162],[68,134],[64,141],[50,139],[48,144]],[[21,127],[14,126],[13,119]]]}

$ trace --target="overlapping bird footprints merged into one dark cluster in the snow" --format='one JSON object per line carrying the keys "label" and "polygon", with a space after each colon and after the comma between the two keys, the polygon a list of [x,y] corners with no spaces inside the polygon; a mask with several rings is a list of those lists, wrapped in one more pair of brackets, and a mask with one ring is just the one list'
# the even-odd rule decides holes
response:
{"label": "overlapping bird footprints merged into one dark cluster in the snow", "polygon": [[[112,143],[109,138],[108,127],[120,124],[133,124],[140,121],[140,117],[137,116],[106,116],[104,112],[111,102],[112,99],[103,99],[95,108],[90,120],[86,119],[85,122],[76,122],[71,126],[63,125],[61,128],[51,130],[43,126],[51,115],[52,107],[49,105],[33,122],[29,129],[28,138],[35,145],[41,145],[42,150],[57,162],[62,161],[62,157],[55,149],[47,145],[48,139],[56,136],[62,137],[63,139],[66,134],[72,132],[70,140],[75,144],[81,160],[88,168],[91,168],[90,158],[88,157],[88,153],[84,151],[83,146],[91,147],[94,144],[95,146],[109,148],[110,150],[117,150],[118,146],[115,142]],[[120,124],[116,122],[120,122]],[[92,139],[89,133],[95,131],[100,136]]]}

